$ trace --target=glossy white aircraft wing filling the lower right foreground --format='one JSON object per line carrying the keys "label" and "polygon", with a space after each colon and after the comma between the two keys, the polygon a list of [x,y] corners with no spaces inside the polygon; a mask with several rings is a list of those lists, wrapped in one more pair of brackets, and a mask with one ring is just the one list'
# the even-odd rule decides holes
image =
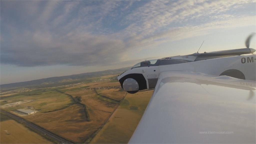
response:
{"label": "glossy white aircraft wing filling the lower right foreground", "polygon": [[129,143],[255,143],[255,81],[162,72]]}

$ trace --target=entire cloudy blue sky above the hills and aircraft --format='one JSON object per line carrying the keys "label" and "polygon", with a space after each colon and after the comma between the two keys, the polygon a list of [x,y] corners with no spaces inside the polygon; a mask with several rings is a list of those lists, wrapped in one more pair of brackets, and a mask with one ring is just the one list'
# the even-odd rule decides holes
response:
{"label": "entire cloudy blue sky above the hills and aircraft", "polygon": [[[245,48],[256,1],[0,1],[0,83]],[[251,41],[255,47],[255,37]]]}

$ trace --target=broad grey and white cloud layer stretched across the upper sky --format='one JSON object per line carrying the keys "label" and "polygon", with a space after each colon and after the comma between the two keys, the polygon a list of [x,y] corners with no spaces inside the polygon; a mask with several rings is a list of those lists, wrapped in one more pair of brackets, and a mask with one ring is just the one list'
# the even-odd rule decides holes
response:
{"label": "broad grey and white cloud layer stretched across the upper sky", "polygon": [[[1,64],[102,66],[255,24],[255,1],[1,1]],[[128,55],[129,53],[129,55]]]}

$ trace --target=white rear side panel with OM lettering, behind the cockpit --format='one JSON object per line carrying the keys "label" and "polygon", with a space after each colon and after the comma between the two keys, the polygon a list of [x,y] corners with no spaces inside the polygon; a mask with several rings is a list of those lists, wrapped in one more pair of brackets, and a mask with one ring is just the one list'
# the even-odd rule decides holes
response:
{"label": "white rear side panel with OM lettering, behind the cockpit", "polygon": [[[253,61],[248,63],[247,57],[253,57]],[[241,62],[242,58],[246,58],[245,63]],[[200,72],[204,74],[219,76],[225,70],[237,69],[244,74],[245,79],[255,81],[255,64],[256,55],[244,55],[194,61],[183,64],[164,65],[159,66],[159,72],[161,73],[163,71],[170,70],[188,70],[193,72]]]}

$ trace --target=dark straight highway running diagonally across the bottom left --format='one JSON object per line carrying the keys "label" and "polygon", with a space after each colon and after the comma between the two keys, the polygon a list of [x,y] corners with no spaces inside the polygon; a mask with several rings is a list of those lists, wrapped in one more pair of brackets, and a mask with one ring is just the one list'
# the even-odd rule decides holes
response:
{"label": "dark straight highway running diagonally across the bottom left", "polygon": [[62,138],[62,137],[60,137],[60,136],[58,136],[58,135],[56,135],[56,134],[54,134],[54,133],[44,129],[44,128],[41,128],[41,127],[39,127],[39,126],[37,126],[37,125],[35,125],[35,124],[33,124],[33,123],[31,123],[31,122],[21,118],[19,116],[16,116],[16,115],[14,115],[14,114],[12,114],[10,112],[7,112],[7,111],[2,110],[2,109],[1,109],[1,112],[3,112],[4,114],[10,116],[11,118],[13,118],[13,119],[15,119],[17,121],[22,122],[27,127],[32,128],[33,130],[35,130],[35,131],[41,133],[42,135],[45,135],[45,136],[47,136],[47,137],[49,137],[49,138],[51,138],[53,140],[55,140],[56,142],[65,143],[65,144],[66,143],[74,143],[74,142],[68,141],[65,138]]}

